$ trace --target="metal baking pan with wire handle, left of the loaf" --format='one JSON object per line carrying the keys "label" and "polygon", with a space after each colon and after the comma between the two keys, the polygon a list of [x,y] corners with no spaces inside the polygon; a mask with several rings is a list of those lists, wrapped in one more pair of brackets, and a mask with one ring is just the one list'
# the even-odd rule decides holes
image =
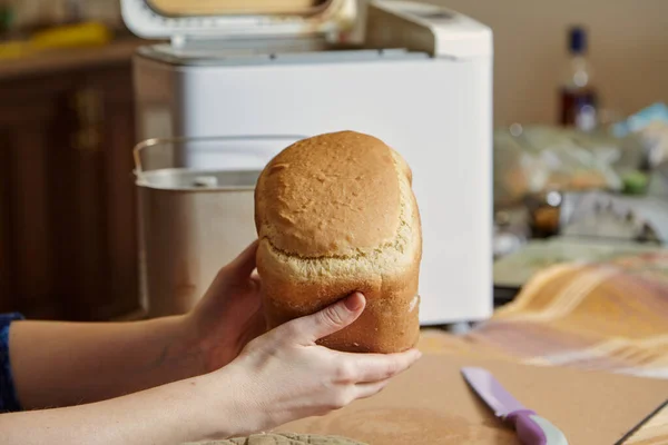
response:
{"label": "metal baking pan with wire handle, left of the loaf", "polygon": [[256,237],[254,190],[299,136],[150,139],[135,147],[141,306],[184,314]]}

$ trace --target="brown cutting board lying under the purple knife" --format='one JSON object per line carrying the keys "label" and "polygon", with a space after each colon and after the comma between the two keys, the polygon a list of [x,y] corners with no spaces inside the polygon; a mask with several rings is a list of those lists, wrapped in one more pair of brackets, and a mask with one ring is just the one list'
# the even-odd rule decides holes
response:
{"label": "brown cutting board lying under the purple knife", "polygon": [[342,435],[372,445],[519,445],[471,392],[460,369],[483,366],[571,445],[611,445],[668,398],[668,380],[454,355],[425,355],[381,394],[281,432]]}

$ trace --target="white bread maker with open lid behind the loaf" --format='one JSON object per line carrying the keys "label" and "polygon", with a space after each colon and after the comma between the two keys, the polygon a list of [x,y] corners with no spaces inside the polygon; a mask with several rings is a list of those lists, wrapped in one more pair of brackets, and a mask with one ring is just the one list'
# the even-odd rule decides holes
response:
{"label": "white bread maker with open lid behind the loaf", "polygon": [[[412,1],[121,0],[121,8],[134,33],[165,41],[135,57],[139,140],[379,137],[413,170],[424,238],[421,324],[491,315],[488,27]],[[228,165],[197,145],[180,147],[187,168]],[[252,167],[282,148],[267,146]]]}

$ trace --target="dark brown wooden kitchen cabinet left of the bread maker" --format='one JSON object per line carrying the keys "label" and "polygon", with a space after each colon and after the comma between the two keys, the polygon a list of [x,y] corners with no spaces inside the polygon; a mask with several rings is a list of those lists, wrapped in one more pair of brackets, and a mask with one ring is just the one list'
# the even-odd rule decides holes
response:
{"label": "dark brown wooden kitchen cabinet left of the bread maker", "polygon": [[0,312],[102,320],[139,308],[130,55],[0,68]]}

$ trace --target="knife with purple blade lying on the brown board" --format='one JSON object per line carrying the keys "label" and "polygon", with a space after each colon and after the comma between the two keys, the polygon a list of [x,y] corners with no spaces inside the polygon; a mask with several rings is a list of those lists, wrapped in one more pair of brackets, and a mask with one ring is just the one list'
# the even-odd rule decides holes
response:
{"label": "knife with purple blade lying on the brown board", "polygon": [[464,367],[462,375],[497,417],[513,425],[523,445],[568,445],[559,428],[525,408],[487,369]]}

